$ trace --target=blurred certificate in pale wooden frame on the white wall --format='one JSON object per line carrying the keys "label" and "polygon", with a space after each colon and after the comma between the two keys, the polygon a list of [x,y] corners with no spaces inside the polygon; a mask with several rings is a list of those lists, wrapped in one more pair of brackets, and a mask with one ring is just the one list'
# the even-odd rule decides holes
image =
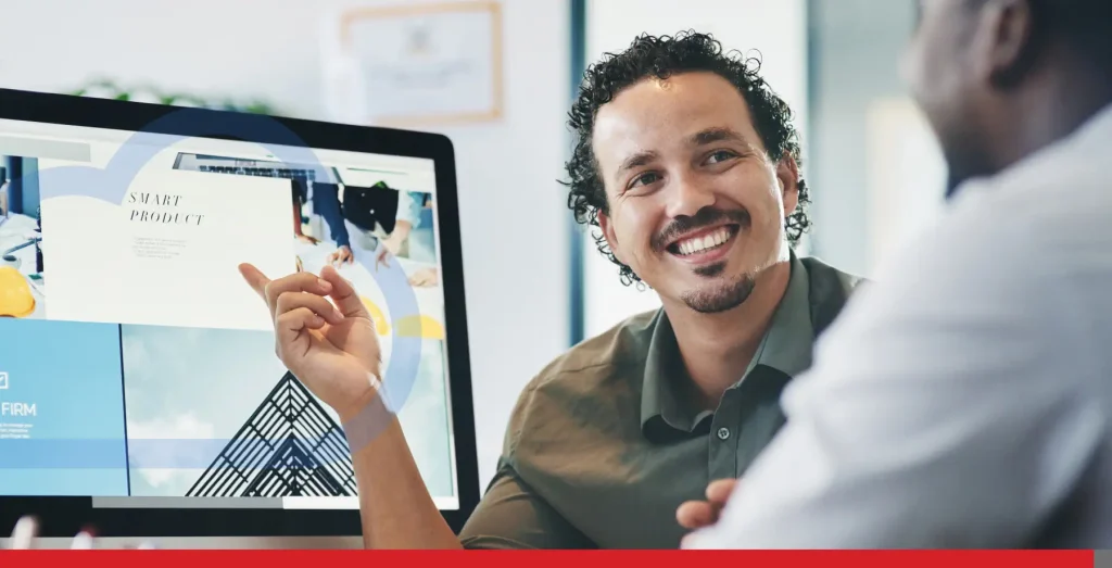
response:
{"label": "blurred certificate in pale wooden frame on the white wall", "polygon": [[503,116],[502,6],[359,7],[329,17],[325,66],[336,118],[426,127]]}

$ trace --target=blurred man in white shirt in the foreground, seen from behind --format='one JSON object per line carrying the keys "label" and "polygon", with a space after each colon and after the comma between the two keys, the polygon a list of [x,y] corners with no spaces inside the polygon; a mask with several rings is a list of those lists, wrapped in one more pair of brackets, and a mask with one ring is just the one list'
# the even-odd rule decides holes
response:
{"label": "blurred man in white shirt in the foreground, seen from behind", "polygon": [[919,7],[904,71],[947,210],[824,336],[728,500],[685,506],[717,520],[688,548],[1112,547],[1112,2]]}

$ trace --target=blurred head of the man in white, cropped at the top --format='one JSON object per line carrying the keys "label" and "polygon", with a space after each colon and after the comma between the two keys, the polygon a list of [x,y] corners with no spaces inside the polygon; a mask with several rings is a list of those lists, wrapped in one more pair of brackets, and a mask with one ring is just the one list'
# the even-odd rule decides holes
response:
{"label": "blurred head of the man in white, cropped at the top", "polygon": [[1112,0],[920,0],[904,60],[961,181],[999,172],[1112,102]]}

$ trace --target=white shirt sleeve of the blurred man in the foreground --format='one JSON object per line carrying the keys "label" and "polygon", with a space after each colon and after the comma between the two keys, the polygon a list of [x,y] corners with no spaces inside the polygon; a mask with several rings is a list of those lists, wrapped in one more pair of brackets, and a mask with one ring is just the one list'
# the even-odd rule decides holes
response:
{"label": "white shirt sleeve of the blurred man in the foreground", "polygon": [[1090,389],[1108,347],[1084,332],[1104,300],[1081,282],[1109,281],[1109,255],[1086,257],[1070,217],[989,203],[851,299],[685,548],[1021,548],[1070,497],[1106,421]]}

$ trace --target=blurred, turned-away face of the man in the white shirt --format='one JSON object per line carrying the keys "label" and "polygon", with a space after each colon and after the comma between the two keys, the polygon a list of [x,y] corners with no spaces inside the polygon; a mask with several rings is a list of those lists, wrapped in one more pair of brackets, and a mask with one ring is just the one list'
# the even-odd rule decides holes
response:
{"label": "blurred, turned-away face of the man in the white shirt", "polygon": [[993,102],[977,80],[972,46],[977,0],[917,0],[919,22],[904,53],[904,81],[934,129],[950,167],[952,192],[985,173],[984,109]]}

